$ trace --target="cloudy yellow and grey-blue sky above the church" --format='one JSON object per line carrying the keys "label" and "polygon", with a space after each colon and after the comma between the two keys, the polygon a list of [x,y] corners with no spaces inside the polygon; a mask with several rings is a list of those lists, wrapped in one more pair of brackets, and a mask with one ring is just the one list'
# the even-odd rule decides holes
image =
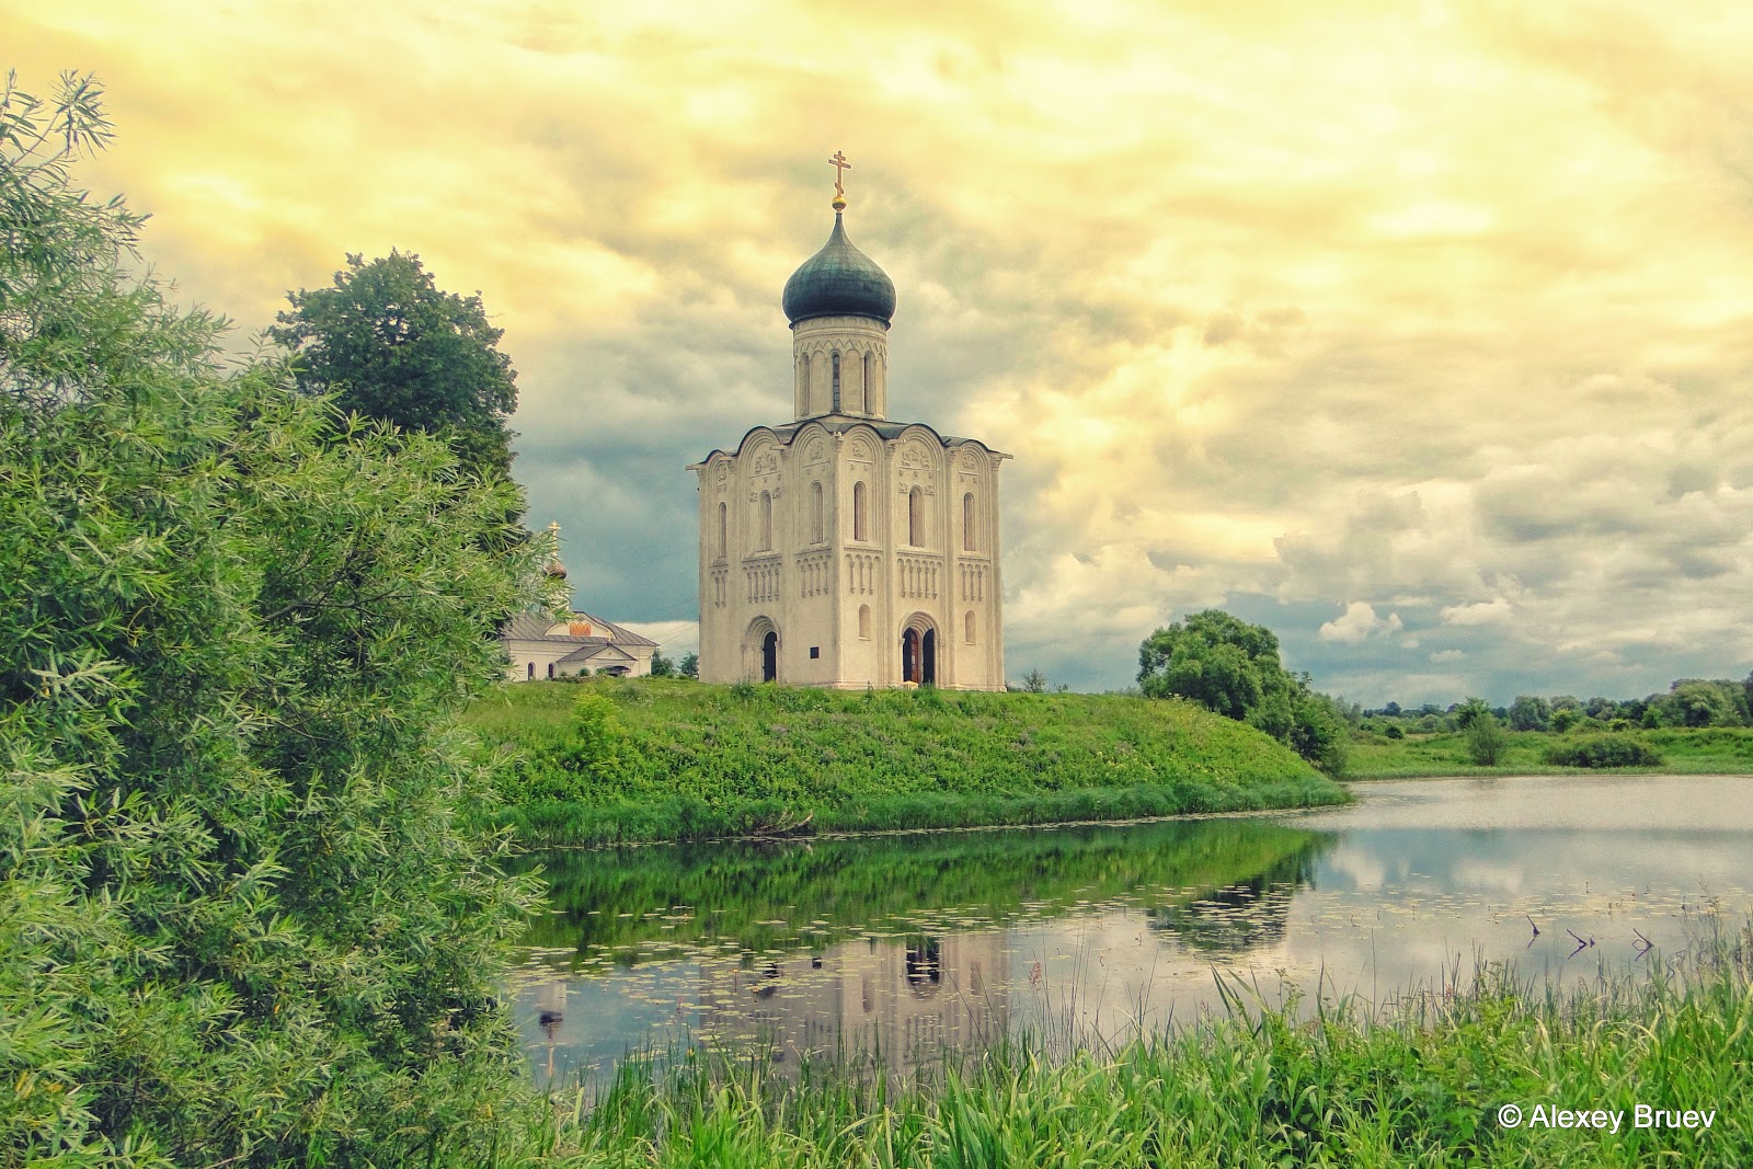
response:
{"label": "cloudy yellow and grey-blue sky above the church", "polygon": [[1225,606],[1378,705],[1753,668],[1746,4],[0,0],[242,337],[345,252],[480,291],[578,603],[685,648],[684,464],[791,417],[791,270],[1011,452],[1006,661]]}

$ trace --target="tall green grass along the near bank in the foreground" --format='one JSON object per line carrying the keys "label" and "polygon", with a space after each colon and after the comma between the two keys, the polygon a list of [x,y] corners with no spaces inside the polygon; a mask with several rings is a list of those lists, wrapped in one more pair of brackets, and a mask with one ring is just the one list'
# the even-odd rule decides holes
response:
{"label": "tall green grass along the near bank in the foreground", "polygon": [[[1648,964],[1567,994],[1488,967],[1374,1017],[1350,1001],[1262,1010],[1232,987],[1225,1015],[1117,1050],[1024,1039],[905,1081],[629,1062],[600,1099],[556,1099],[559,1144],[578,1167],[1753,1164],[1753,932]],[[1620,1122],[1548,1123],[1551,1109]],[[1639,1127],[1653,1109],[1672,1123]]]}

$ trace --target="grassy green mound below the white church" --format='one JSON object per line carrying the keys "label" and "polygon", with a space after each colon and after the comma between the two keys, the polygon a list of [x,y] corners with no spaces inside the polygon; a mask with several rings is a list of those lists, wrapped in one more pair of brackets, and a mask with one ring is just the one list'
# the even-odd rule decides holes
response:
{"label": "grassy green mound below the white church", "polygon": [[[580,703],[582,699],[582,703]],[[1343,803],[1252,727],[1118,694],[505,685],[463,719],[529,843],[1122,820]]]}

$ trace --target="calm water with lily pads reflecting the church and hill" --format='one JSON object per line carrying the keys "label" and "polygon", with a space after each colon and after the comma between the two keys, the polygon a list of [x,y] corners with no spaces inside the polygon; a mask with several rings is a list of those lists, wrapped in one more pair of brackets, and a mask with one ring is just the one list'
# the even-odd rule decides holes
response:
{"label": "calm water with lily pads reflecting the church and hill", "polygon": [[1353,790],[1294,815],[545,854],[522,1041],[542,1081],[747,1039],[903,1067],[1222,1010],[1220,971],[1273,1003],[1380,1004],[1480,960],[1586,980],[1753,913],[1748,776]]}

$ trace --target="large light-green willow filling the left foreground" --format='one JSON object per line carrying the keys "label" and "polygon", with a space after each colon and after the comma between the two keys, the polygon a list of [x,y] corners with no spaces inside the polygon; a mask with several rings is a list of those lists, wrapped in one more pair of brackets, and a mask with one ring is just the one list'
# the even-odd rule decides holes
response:
{"label": "large light-green willow filling the left foreground", "polygon": [[0,103],[0,1164],[503,1160],[531,887],[451,724],[514,489],[130,275],[98,98]]}

